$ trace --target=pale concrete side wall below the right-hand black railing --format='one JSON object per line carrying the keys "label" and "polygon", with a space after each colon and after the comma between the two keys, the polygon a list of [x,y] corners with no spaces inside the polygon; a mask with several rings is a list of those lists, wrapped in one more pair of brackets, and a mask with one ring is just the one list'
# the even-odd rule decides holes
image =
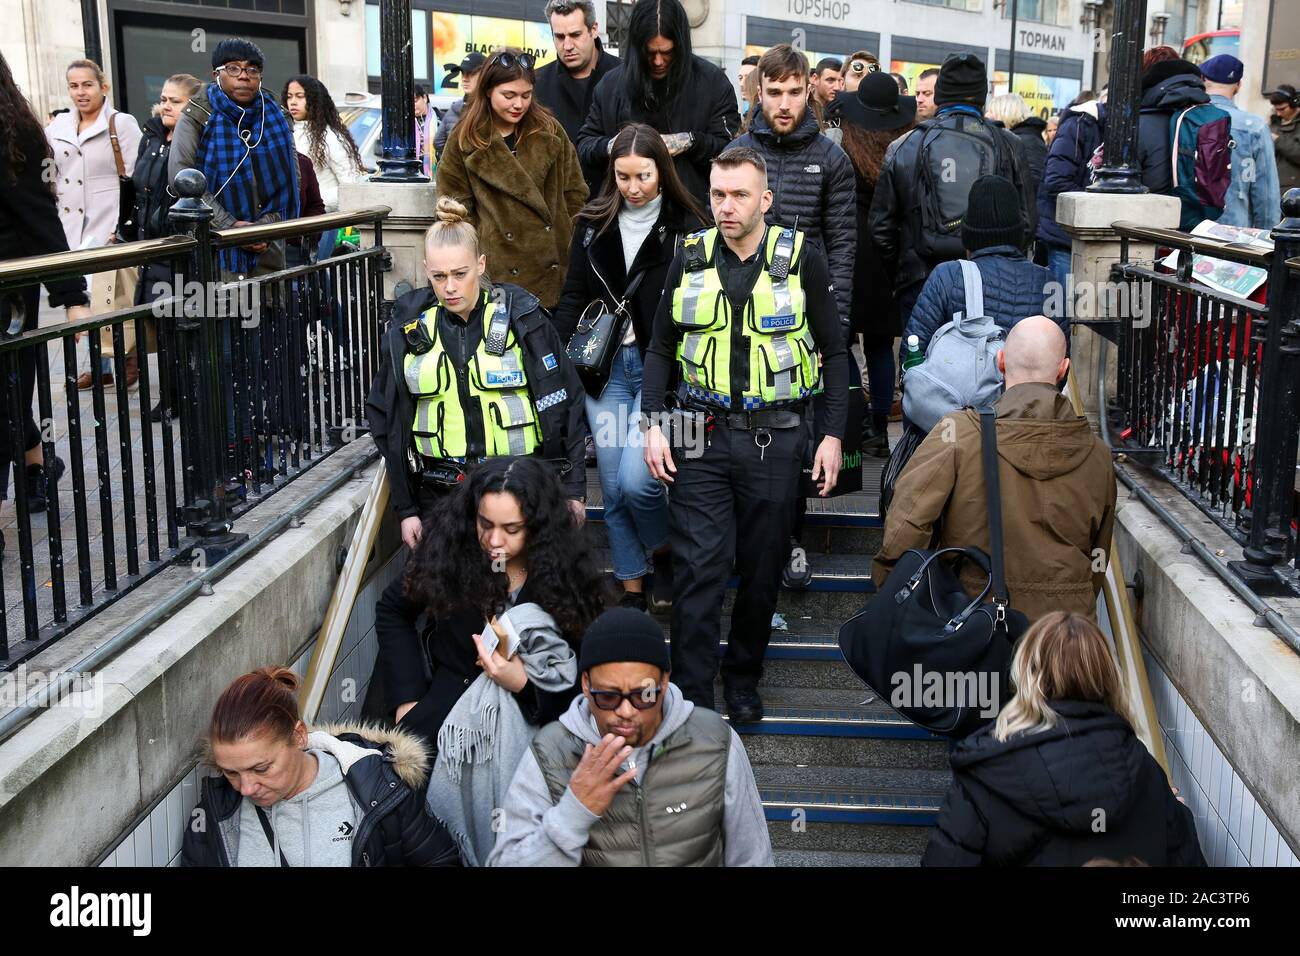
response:
{"label": "pale concrete side wall below the right-hand black railing", "polygon": [[[1144,484],[1219,559],[1240,557],[1240,545],[1175,488],[1160,480]],[[1300,848],[1300,654],[1268,627],[1257,627],[1249,606],[1195,554],[1184,554],[1180,540],[1123,486],[1115,542],[1126,574],[1143,579],[1135,614],[1165,745],[1175,784],[1197,816],[1206,857],[1222,853],[1235,861],[1239,851],[1252,864],[1290,862],[1280,848]],[[1288,620],[1300,620],[1300,601],[1271,604]],[[1260,817],[1251,817],[1249,839],[1242,830],[1242,806],[1252,805],[1247,792],[1260,816],[1271,821],[1258,822],[1258,845]],[[1279,834],[1278,849],[1269,842],[1270,826]],[[1232,835],[1235,848],[1223,832]]]}

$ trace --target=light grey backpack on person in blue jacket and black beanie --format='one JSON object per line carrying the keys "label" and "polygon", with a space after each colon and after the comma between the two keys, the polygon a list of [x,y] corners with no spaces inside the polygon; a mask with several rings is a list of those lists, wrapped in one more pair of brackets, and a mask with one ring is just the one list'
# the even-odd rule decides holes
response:
{"label": "light grey backpack on person in blue jacket and black beanie", "polygon": [[905,373],[902,411],[923,432],[958,408],[992,407],[1002,394],[997,354],[1006,333],[984,315],[979,267],[970,259],[959,259],[958,265],[966,286],[966,308],[953,313],[953,320],[931,337],[926,360]]}

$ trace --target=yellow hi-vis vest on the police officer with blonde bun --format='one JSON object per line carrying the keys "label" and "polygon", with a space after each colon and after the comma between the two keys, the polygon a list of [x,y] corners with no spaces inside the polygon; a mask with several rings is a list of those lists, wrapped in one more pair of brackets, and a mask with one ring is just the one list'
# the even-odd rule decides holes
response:
{"label": "yellow hi-vis vest on the police officer with blonde bun", "polygon": [[[541,444],[537,411],[528,389],[524,352],[504,306],[491,300],[484,306],[482,336],[464,369],[456,368],[439,341],[441,308],[436,306],[415,320],[424,323],[433,347],[419,354],[408,349],[402,363],[407,389],[415,398],[411,427],[415,450],[429,458],[468,455],[465,403],[473,403],[482,411],[484,457],[533,454]],[[494,330],[493,316],[498,310]],[[500,354],[493,349],[494,339]]]}

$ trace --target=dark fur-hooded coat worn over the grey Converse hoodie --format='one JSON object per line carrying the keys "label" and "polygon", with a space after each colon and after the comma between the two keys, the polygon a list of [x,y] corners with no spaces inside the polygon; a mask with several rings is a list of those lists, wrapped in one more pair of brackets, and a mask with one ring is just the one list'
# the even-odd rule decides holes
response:
{"label": "dark fur-hooded coat worn over the grey Converse hoodie", "polygon": [[[425,809],[429,754],[400,728],[317,727],[309,747],[329,750],[343,769],[359,821],[352,866],[459,866],[447,830]],[[204,826],[185,829],[183,866],[234,866],[239,860],[243,796],[225,777],[207,777],[199,796]]]}

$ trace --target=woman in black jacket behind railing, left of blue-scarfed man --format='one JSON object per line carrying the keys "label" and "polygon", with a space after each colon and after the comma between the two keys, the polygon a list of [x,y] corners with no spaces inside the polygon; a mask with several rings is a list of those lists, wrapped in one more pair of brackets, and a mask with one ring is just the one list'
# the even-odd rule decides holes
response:
{"label": "woman in black jacket behind railing, left of blue-scarfed man", "polygon": [[[129,208],[122,206],[114,242],[161,239],[164,235],[172,234],[166,216],[177,196],[172,193],[172,183],[168,181],[168,148],[172,144],[172,131],[176,129],[176,122],[181,118],[181,111],[190,103],[190,98],[202,88],[203,83],[199,82],[198,77],[188,73],[177,73],[162,83],[162,92],[157,105],[153,107],[153,116],[140,127],[140,152],[135,159],[135,169],[131,172],[135,202]],[[179,290],[172,287],[176,282],[174,269],[176,265],[172,261],[157,261],[140,267],[140,281],[135,287],[135,304],[178,295]],[[144,328],[148,338],[146,349],[156,351],[157,326],[155,320],[146,319]],[[166,354],[168,345],[164,345],[159,356],[160,371],[170,369]],[[162,372],[162,375],[170,380],[168,372]],[[165,390],[174,392],[174,384],[165,382]],[[169,405],[162,401],[162,393],[164,384],[160,382],[159,403],[150,411],[150,419],[153,421],[162,420]]]}

